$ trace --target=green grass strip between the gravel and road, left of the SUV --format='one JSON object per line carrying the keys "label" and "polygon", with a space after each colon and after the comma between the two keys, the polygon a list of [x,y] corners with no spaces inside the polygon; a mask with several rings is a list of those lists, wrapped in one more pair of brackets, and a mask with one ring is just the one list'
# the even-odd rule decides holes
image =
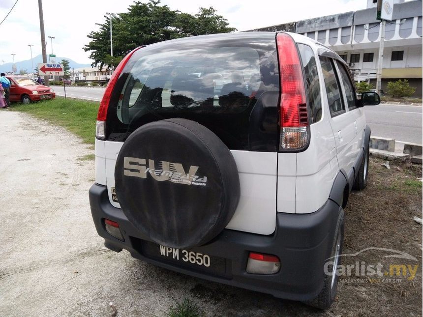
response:
{"label": "green grass strip between the gravel and road, left of the SUV", "polygon": [[15,103],[11,109],[65,127],[79,136],[84,143],[94,144],[95,122],[99,104],[99,102],[94,101],[58,97],[29,105]]}

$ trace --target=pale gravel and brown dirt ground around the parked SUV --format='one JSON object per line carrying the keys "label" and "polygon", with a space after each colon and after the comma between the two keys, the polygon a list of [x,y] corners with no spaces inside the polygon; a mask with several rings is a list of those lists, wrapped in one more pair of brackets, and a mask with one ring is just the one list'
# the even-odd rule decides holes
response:
{"label": "pale gravel and brown dirt ground around the parked SUV", "polygon": [[[343,258],[417,266],[416,276],[342,276],[331,309],[188,277],[106,249],[94,228],[89,145],[28,115],[0,111],[0,316],[163,316],[189,298],[205,316],[422,316],[421,166],[370,161],[346,207]],[[396,169],[396,167],[399,168]],[[406,266],[407,267],[407,266]],[[391,280],[391,281],[389,281]]]}

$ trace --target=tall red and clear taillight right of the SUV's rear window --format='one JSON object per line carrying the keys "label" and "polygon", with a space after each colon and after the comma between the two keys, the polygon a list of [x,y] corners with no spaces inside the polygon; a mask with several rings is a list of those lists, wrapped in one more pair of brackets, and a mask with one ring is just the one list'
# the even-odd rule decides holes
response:
{"label": "tall red and clear taillight right of the SUV's rear window", "polygon": [[293,38],[276,36],[280,76],[279,150],[300,149],[308,142],[308,113],[302,64]]}

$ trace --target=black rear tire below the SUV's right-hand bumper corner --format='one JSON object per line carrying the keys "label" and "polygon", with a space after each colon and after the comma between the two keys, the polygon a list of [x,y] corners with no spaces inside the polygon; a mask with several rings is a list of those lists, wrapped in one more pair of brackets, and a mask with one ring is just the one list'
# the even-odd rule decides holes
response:
{"label": "black rear tire below the SUV's right-hand bumper corner", "polygon": [[[342,246],[344,244],[344,210],[341,209],[338,215],[338,221],[336,224],[336,230],[333,237],[332,242],[332,252],[331,252],[331,258],[327,260],[332,260],[336,255],[342,254]],[[337,257],[336,266],[341,263],[342,257]],[[335,270],[336,270],[335,266]],[[328,267],[328,271],[332,271],[333,265],[330,265]],[[333,271],[332,271],[333,272]],[[331,307],[333,299],[336,295],[336,287],[338,286],[338,276],[337,275],[327,275],[324,273],[324,284],[323,288],[320,291],[320,293],[317,295],[316,298],[305,301],[304,303],[315,307],[319,309],[328,309]],[[333,281],[332,281],[332,276]]]}

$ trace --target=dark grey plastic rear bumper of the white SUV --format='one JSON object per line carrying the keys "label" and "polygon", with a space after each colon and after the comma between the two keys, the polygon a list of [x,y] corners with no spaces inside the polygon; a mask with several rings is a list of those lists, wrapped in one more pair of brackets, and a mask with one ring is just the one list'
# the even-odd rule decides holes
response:
{"label": "dark grey plastic rear bumper of the white SUV", "polygon": [[[127,220],[122,210],[113,207],[107,188],[94,184],[90,189],[92,219],[105,246],[116,252],[128,250],[132,257],[158,266],[206,280],[272,294],[291,300],[308,300],[323,288],[325,260],[331,256],[332,240],[340,207],[328,200],[311,214],[276,213],[276,230],[259,235],[225,229],[208,244],[193,251],[225,258],[228,275],[213,276],[169,262],[147,258],[139,239],[149,240]],[[125,241],[111,236],[104,227],[104,218],[119,223]],[[276,255],[281,269],[272,275],[246,273],[250,251]]]}

